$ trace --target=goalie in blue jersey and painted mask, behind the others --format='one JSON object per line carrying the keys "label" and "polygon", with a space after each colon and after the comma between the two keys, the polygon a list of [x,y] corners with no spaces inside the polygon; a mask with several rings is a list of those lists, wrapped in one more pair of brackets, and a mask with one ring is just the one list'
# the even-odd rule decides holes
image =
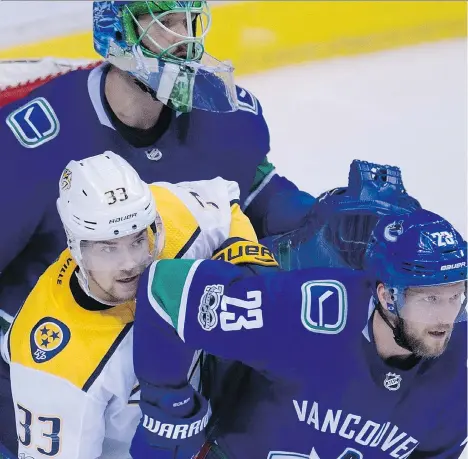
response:
{"label": "goalie in blue jersey and painted mask, behind the others", "polygon": [[[306,224],[314,199],[268,162],[259,101],[235,86],[230,65],[205,53],[210,24],[206,1],[95,2],[94,46],[105,63],[0,109],[4,328],[66,246],[56,178],[84,154],[114,151],[149,183],[236,181],[259,237]],[[14,448],[7,372],[0,369],[0,443]]]}

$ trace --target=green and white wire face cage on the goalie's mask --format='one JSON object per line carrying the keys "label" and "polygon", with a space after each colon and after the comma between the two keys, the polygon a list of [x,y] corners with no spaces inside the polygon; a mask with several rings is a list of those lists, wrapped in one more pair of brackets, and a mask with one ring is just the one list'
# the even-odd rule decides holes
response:
{"label": "green and white wire face cage on the goalie's mask", "polygon": [[[160,12],[160,10],[158,10],[155,6],[151,5],[151,3],[153,2],[146,1],[144,2],[145,5],[142,5],[142,3],[143,2],[134,2],[134,4],[132,5],[126,5],[122,13],[123,28],[125,36],[130,45],[140,46],[143,55],[146,57],[161,59],[172,63],[183,63],[192,61],[198,62],[202,58],[205,52],[205,37],[211,28],[211,14],[206,2],[186,2],[187,6],[185,7],[176,7],[163,12]],[[189,6],[189,4],[193,3],[200,4],[200,6]],[[161,19],[173,13],[185,13],[187,20],[188,35],[181,35],[177,32],[174,32],[161,22]],[[152,21],[146,28],[143,28],[138,21],[137,16],[141,14],[150,14],[152,17]],[[195,18],[192,17],[193,14],[195,15]],[[201,29],[200,36],[198,37],[196,36],[197,21],[200,22]],[[167,48],[163,48],[159,45],[159,43],[157,43],[156,40],[154,40],[148,34],[148,30],[153,24],[157,24],[159,27],[161,27],[162,30],[177,38],[180,38],[180,40]],[[136,32],[137,29],[141,32],[139,35]],[[145,37],[148,38],[148,40],[150,40],[151,43],[153,43],[153,45],[155,45],[162,51],[160,53],[155,53],[146,48],[142,43],[142,40]],[[186,58],[181,58],[172,54],[171,51],[176,50],[178,47],[184,45],[187,46]]]}

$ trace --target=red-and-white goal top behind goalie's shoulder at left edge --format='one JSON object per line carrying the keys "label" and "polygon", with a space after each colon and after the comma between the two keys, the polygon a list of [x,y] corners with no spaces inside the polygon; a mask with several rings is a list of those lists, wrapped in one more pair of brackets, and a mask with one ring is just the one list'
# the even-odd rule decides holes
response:
{"label": "red-and-white goal top behind goalie's shoulder at left edge", "polygon": [[0,60],[0,107],[26,97],[60,75],[96,67],[101,61],[71,59]]}

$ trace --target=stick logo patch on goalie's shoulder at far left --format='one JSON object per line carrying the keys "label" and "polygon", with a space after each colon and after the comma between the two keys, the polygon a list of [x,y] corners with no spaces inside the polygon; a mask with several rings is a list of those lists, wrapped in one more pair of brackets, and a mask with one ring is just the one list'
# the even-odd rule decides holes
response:
{"label": "stick logo patch on goalie's shoulder at far left", "polygon": [[36,148],[57,137],[60,123],[43,97],[31,100],[8,115],[8,127],[25,148]]}

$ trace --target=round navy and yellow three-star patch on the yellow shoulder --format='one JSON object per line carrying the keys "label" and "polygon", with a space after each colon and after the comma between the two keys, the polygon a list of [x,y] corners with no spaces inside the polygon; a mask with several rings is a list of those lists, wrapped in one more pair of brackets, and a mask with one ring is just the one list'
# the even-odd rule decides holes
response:
{"label": "round navy and yellow three-star patch on the yellow shoulder", "polygon": [[36,363],[48,362],[70,341],[70,329],[60,320],[44,317],[32,329],[30,345]]}

